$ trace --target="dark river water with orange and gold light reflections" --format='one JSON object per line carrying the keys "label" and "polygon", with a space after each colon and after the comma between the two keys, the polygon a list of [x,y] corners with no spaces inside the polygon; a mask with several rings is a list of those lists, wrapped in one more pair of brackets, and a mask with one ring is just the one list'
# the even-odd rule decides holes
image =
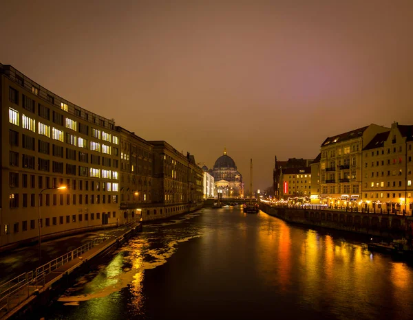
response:
{"label": "dark river water with orange and gold light reflections", "polygon": [[413,268],[239,207],[145,225],[45,319],[413,319]]}

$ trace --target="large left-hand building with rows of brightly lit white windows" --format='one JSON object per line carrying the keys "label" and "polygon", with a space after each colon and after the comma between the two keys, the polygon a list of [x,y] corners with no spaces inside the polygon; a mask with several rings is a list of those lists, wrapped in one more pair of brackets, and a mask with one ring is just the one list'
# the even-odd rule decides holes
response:
{"label": "large left-hand building with rows of brightly lit white windows", "polygon": [[114,121],[10,65],[0,64],[0,87],[0,246],[37,237],[39,225],[50,236],[122,222]]}

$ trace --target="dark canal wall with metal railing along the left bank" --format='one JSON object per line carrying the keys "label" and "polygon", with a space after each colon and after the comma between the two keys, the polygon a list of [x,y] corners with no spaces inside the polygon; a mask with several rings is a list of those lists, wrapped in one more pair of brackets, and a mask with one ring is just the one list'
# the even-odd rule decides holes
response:
{"label": "dark canal wall with metal railing along the left bank", "polygon": [[[82,257],[78,258],[75,263],[63,264],[63,269],[57,272],[50,273],[50,276],[45,285],[39,288],[36,294],[31,295],[28,299],[25,299],[17,308],[10,310],[1,319],[29,319],[33,314],[36,314],[50,305],[51,301],[59,297],[67,287],[71,286],[76,278],[84,273],[89,272],[92,266],[98,263],[98,258],[103,257],[107,253],[117,249],[122,244],[127,242],[130,238],[136,236],[136,233],[142,231],[142,224],[138,223],[136,227],[126,230],[120,236],[112,238],[103,245],[86,251]],[[59,270],[58,269],[58,270]]]}

